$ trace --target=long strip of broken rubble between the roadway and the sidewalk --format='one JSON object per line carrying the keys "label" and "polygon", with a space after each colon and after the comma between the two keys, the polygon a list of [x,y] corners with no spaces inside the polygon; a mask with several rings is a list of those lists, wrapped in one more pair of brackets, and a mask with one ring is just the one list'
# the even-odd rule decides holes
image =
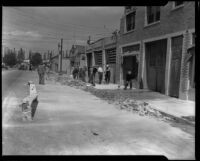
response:
{"label": "long strip of broken rubble between the roadway and the sidewalk", "polygon": [[108,90],[108,89],[96,89],[92,85],[82,82],[78,79],[73,79],[67,75],[54,74],[50,77],[50,80],[59,82],[61,85],[71,86],[77,89],[82,89],[84,91],[90,92],[96,97],[106,100],[108,103],[115,104],[115,106],[120,110],[126,110],[140,116],[146,116],[150,118],[156,118],[161,121],[172,121],[172,122],[185,122],[184,120],[179,120],[173,116],[166,113],[160,112],[153,108],[149,103],[134,99],[133,91],[131,90]]}

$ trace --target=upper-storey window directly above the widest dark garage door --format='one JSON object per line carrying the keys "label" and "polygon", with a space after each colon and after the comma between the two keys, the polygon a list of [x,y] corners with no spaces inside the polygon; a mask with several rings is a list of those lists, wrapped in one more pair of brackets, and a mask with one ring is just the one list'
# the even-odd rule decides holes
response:
{"label": "upper-storey window directly above the widest dark garage door", "polygon": [[147,7],[147,24],[151,24],[160,20],[160,7],[149,6]]}

